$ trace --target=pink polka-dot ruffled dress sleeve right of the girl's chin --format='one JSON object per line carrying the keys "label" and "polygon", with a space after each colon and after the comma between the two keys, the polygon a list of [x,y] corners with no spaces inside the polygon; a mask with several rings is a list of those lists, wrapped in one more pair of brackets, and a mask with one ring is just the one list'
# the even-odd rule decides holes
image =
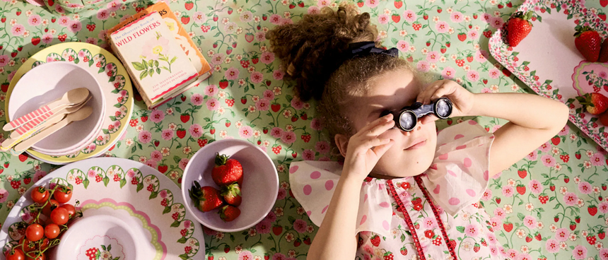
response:
{"label": "pink polka-dot ruffled dress sleeve right of the girl's chin", "polygon": [[422,180],[445,212],[455,215],[484,195],[493,140],[494,135],[473,120],[439,132],[435,158]]}

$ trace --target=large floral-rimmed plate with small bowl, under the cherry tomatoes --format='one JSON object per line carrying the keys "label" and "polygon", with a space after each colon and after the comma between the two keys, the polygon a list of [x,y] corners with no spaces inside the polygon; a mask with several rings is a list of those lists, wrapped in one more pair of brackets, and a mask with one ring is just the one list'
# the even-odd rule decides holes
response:
{"label": "large floral-rimmed plate with small bowl, under the cherry tomatoes", "polygon": [[[93,158],[59,168],[33,187],[55,184],[72,187],[69,203],[80,201],[77,208],[83,217],[62,235],[51,259],[204,257],[201,226],[186,211],[180,188],[151,167],[127,159]],[[23,237],[22,224],[33,220],[30,204],[28,190],[8,213],[0,231],[4,251]]]}

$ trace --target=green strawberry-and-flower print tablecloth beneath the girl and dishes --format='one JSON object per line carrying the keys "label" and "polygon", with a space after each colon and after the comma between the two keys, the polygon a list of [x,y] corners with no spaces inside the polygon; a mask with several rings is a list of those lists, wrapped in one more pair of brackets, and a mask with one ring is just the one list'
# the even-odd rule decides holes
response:
{"label": "green strawberry-and-flower print tablecloth beneath the girl and dishes", "polygon": [[[6,99],[11,76],[30,55],[59,42],[107,47],[101,40],[105,30],[147,4],[151,2],[107,1],[95,4],[93,10],[61,16],[22,0],[0,1],[0,102]],[[242,138],[261,146],[279,172],[281,189],[275,207],[250,230],[206,230],[206,258],[305,259],[317,227],[291,196],[288,165],[293,160],[335,158],[315,103],[302,102],[281,80],[284,72],[268,52],[265,33],[277,24],[298,21],[304,13],[339,3],[168,0],[168,4],[212,64],[214,75],[158,110],[146,110],[143,102],[136,102],[127,134],[105,156],[144,162],[177,184],[189,158],[211,141]],[[474,93],[533,93],[506,76],[510,73],[488,54],[488,38],[522,1],[358,0],[356,4],[372,14],[384,44],[397,47],[399,55],[419,69],[452,78]],[[603,14],[606,4],[589,1],[586,6]],[[549,0],[546,5],[562,3]],[[0,110],[0,118],[4,113]],[[461,120],[448,119],[439,126]],[[495,118],[475,120],[488,131],[505,124]],[[568,123],[491,180],[481,203],[495,216],[497,240],[514,259],[608,259],[606,155]],[[14,201],[57,166],[8,153],[0,154],[0,164],[0,223],[8,225],[3,222]],[[523,220],[534,220],[534,225],[524,225]],[[474,247],[470,245],[470,250]],[[374,253],[374,259],[384,258],[385,252]]]}

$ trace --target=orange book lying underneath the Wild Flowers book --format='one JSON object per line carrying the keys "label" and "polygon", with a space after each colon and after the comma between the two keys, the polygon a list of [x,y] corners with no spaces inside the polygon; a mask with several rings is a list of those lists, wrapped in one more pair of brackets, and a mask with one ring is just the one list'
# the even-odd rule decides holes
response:
{"label": "orange book lying underneath the Wild Flowers book", "polygon": [[[107,35],[111,35],[112,32],[115,32],[116,30],[119,30],[120,28],[123,28],[124,26],[128,25],[129,23],[133,23],[135,20],[138,20],[139,18],[146,16],[148,13],[152,13],[152,12],[158,12],[160,14],[160,16],[163,18],[163,21],[165,21],[165,24],[167,25],[169,30],[171,32],[173,32],[173,35],[175,36],[175,41],[177,42],[177,44],[180,45],[180,48],[187,55],[187,57],[190,59],[190,61],[192,61],[194,68],[197,69],[197,71],[199,72],[199,78],[197,78],[196,81],[189,83],[189,85],[185,85],[183,88],[175,90],[173,93],[169,93],[170,95],[166,95],[163,98],[164,100],[157,102],[155,105],[153,105],[153,107],[157,107],[158,105],[162,105],[164,102],[167,102],[171,98],[174,98],[175,96],[180,95],[181,93],[188,90],[189,88],[192,88],[193,86],[198,85],[201,81],[204,81],[206,78],[209,78],[209,76],[211,76],[212,70],[211,70],[211,66],[206,61],[203,54],[201,54],[201,52],[199,51],[197,45],[194,45],[194,42],[189,37],[187,31],[182,27],[180,20],[177,19],[177,17],[173,13],[173,11],[171,11],[169,6],[167,4],[165,4],[165,2],[163,2],[163,1],[159,1],[156,4],[148,6],[148,8],[144,9],[143,11],[140,11],[139,13],[136,13],[134,16],[131,16],[131,17],[127,18],[126,20],[122,21],[121,23],[116,25],[114,28],[111,28],[110,30],[108,30]],[[148,107],[148,108],[153,108],[153,107]]]}

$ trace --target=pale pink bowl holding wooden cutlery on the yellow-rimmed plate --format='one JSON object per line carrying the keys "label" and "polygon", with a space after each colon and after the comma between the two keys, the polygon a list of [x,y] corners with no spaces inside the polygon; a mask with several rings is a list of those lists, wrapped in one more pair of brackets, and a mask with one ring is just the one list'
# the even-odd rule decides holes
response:
{"label": "pale pink bowl holding wooden cutlery on the yellow-rimmed plate", "polygon": [[10,118],[22,117],[53,100],[62,98],[69,90],[87,88],[92,96],[87,105],[93,107],[88,118],[73,122],[42,139],[32,148],[40,153],[69,153],[95,138],[105,117],[105,95],[97,79],[81,66],[68,61],[56,61],[35,67],[17,82],[8,104]]}

